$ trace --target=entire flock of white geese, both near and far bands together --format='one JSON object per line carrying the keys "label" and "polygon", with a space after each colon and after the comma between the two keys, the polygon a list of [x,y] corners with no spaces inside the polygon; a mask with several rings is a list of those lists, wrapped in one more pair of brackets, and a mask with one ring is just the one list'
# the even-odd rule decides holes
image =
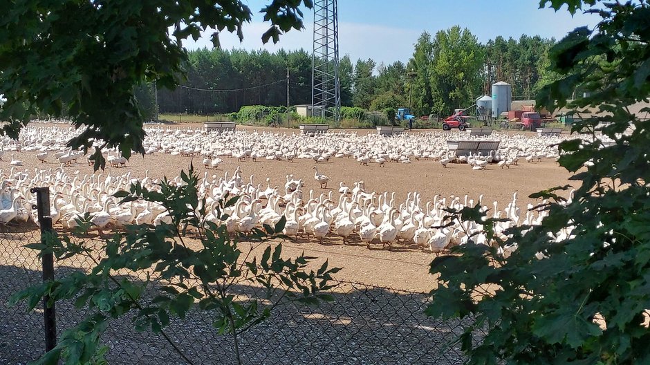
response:
{"label": "entire flock of white geese, both near and far bands together", "polygon": [[[276,159],[293,161],[295,158],[310,158],[315,162],[314,178],[325,187],[329,178],[317,171],[319,162],[333,158],[357,158],[361,165],[376,162],[383,166],[386,162],[408,163],[411,159],[431,159],[440,163],[467,162],[475,169],[488,164],[516,164],[525,159],[534,162],[541,158],[557,158],[557,142],[565,137],[530,137],[496,133],[492,139],[501,140],[498,151],[488,156],[468,156],[465,160],[452,156],[447,151],[446,140],[449,133],[429,132],[416,135],[398,135],[382,138],[378,135],[358,133],[327,133],[308,137],[290,133],[245,132],[206,133],[201,129],[173,129],[166,127],[147,128],[145,148],[147,153],[169,153],[171,155],[203,156],[206,167],[216,167],[221,158]],[[39,160],[56,158],[62,165],[83,163],[84,154],[65,147],[65,142],[74,130],[68,127],[28,127],[18,140],[0,141],[0,158],[12,151],[35,151]],[[458,136],[456,136],[458,137]],[[113,164],[118,158],[113,151],[105,151],[107,160]],[[455,161],[446,161],[455,159]],[[20,162],[20,161],[18,161]],[[119,165],[126,161],[118,160]],[[93,227],[98,231],[115,229],[130,224],[159,225],[169,223],[169,215],[163,207],[152,203],[124,203],[118,205],[113,194],[120,189],[128,189],[136,180],[149,188],[159,189],[159,181],[150,178],[131,176],[130,173],[111,176],[91,174],[81,176],[80,171],[68,172],[63,167],[56,169],[21,170],[21,163],[10,160],[9,169],[0,169],[0,225],[36,221],[35,196],[31,187],[50,188],[50,216],[53,223],[65,229],[77,225],[77,219],[84,214],[91,215]],[[496,166],[495,165],[495,166]],[[366,191],[364,182],[355,182],[353,187],[340,183],[337,196],[333,191],[321,194],[318,191],[303,191],[303,180],[292,175],[286,176],[284,189],[257,184],[254,177],[242,177],[243,171],[236,169],[229,176],[210,175],[205,172],[199,191],[205,198],[207,216],[205,222],[223,224],[228,232],[250,232],[261,225],[275,225],[282,216],[286,217],[284,234],[315,239],[321,243],[330,238],[342,239],[343,243],[362,243],[391,247],[414,245],[432,252],[441,252],[453,245],[462,245],[471,239],[489,244],[483,227],[475,222],[454,221],[444,228],[447,208],[481,205],[481,209],[496,218],[508,218],[498,223],[496,234],[505,238],[505,230],[514,225],[536,225],[546,212],[520,209],[517,194],[512,201],[499,206],[498,202],[483,205],[483,197],[435,196],[432,200],[414,191],[403,201],[396,201],[389,191]],[[180,184],[180,178],[172,180]],[[219,221],[215,207],[226,194],[240,196],[239,201],[228,209],[229,218]],[[476,200],[474,200],[476,199]],[[557,232],[559,241],[570,232]]]}

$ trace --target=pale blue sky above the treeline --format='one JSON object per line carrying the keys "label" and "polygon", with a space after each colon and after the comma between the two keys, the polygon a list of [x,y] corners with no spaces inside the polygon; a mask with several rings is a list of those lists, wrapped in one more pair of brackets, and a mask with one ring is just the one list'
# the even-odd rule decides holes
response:
{"label": "pale blue sky above the treeline", "polygon": [[[312,50],[313,10],[304,9],[304,30],[292,30],[280,37],[278,44],[264,45],[262,33],[268,29],[258,13],[268,1],[248,0],[254,13],[243,30],[244,40],[223,32],[222,48],[260,48],[275,51],[304,48]],[[599,18],[566,11],[539,9],[539,0],[338,0],[339,52],[358,58],[372,58],[377,64],[407,62],[423,31],[434,35],[454,25],[467,28],[481,43],[502,35],[519,38],[522,34],[561,39],[577,26],[594,26]],[[206,32],[210,34],[211,32]],[[189,41],[187,48],[212,47],[209,37]]]}

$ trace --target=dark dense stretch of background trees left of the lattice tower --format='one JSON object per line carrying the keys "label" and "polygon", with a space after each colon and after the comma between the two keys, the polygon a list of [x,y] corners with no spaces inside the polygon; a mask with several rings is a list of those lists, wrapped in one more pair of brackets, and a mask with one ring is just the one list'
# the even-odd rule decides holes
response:
{"label": "dark dense stretch of background trees left of the lattice tower", "polygon": [[203,48],[189,51],[187,57],[184,85],[237,91],[160,90],[158,95],[163,113],[229,113],[248,104],[286,105],[287,67],[290,102],[311,102],[312,59],[306,50],[281,49],[269,53],[267,50]]}

